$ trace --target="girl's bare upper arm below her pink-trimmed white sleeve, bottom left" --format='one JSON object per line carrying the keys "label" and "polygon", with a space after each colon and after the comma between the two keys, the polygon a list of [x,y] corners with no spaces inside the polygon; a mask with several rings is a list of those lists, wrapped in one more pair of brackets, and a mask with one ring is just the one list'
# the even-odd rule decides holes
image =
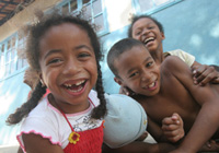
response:
{"label": "girl's bare upper arm below her pink-trimmed white sleeve, bottom left", "polygon": [[64,153],[61,146],[39,134],[28,133],[22,136],[27,153]]}

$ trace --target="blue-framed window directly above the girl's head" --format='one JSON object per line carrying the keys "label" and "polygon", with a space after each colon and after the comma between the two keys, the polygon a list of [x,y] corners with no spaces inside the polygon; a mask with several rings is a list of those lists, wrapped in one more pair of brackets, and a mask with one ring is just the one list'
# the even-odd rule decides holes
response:
{"label": "blue-framed window directly above the girl's head", "polygon": [[91,24],[95,25],[97,35],[104,35],[108,32],[106,11],[103,0],[69,0],[60,4],[61,13],[71,13],[82,16]]}

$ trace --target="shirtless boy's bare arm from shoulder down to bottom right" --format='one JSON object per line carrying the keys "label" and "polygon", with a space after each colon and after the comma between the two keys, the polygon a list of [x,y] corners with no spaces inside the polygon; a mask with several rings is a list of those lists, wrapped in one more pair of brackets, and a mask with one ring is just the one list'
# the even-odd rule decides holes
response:
{"label": "shirtless boy's bare arm from shoulder down to bottom right", "polygon": [[[201,106],[196,120],[181,146],[173,153],[197,152],[216,132],[219,127],[219,94],[210,84],[205,86],[194,85],[191,69],[177,57],[165,59],[163,69],[170,71],[194,99]],[[215,85],[215,87],[217,87]],[[186,102],[185,102],[186,103]]]}

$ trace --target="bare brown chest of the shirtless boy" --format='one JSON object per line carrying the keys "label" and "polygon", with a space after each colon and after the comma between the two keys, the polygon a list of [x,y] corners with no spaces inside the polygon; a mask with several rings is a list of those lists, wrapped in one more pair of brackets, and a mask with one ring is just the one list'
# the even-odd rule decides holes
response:
{"label": "bare brown chest of the shirtless boy", "polygon": [[184,120],[193,122],[199,106],[188,91],[177,82],[170,79],[163,81],[159,94],[152,97],[140,98],[139,102],[152,120],[161,123],[163,118],[177,113]]}

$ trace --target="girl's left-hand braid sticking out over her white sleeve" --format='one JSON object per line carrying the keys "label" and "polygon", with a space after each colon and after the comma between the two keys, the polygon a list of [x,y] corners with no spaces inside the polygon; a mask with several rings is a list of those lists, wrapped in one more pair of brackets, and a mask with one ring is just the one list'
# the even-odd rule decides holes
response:
{"label": "girl's left-hand braid sticking out over her white sleeve", "polygon": [[24,103],[20,108],[16,108],[14,114],[11,114],[7,122],[9,125],[15,125],[19,123],[24,117],[28,115],[28,113],[36,107],[39,99],[43,97],[43,95],[46,93],[46,86],[42,87],[41,81],[34,89],[34,91],[31,94],[31,98],[26,103]]}

